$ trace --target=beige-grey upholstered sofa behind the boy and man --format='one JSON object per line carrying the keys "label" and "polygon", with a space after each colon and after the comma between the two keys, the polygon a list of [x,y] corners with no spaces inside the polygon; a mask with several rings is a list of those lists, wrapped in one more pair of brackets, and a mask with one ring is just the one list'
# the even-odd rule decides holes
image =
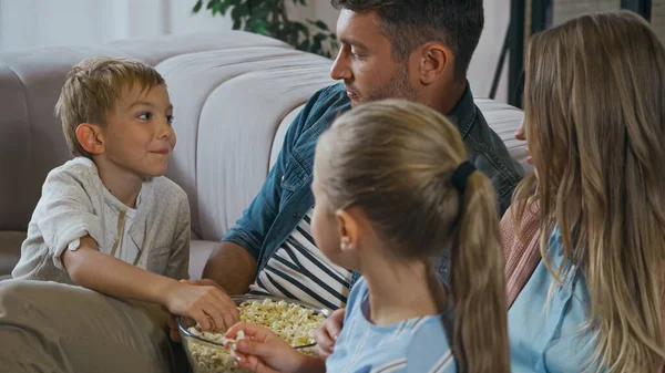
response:
{"label": "beige-grey upholstered sofa behind the boy and man", "polygon": [[[168,84],[177,146],[167,176],[190,196],[190,272],[198,278],[258,193],[287,126],[313,93],[334,83],[331,61],[236,31],[0,53],[0,279],[18,261],[48,172],[70,158],[53,106],[66,71],[92,55],[144,61]],[[522,112],[477,104],[524,164],[524,147],[513,139]]]}

